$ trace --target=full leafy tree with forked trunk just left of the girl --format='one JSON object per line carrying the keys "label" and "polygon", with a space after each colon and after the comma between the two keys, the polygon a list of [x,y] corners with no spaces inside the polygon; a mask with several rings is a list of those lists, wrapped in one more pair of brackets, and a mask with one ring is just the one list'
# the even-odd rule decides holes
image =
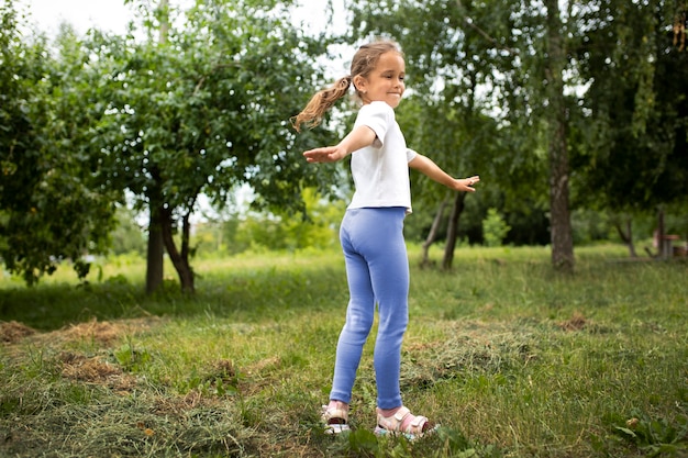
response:
{"label": "full leafy tree with forked trunk just left of the girl", "polygon": [[296,30],[289,5],[199,0],[184,13],[144,9],[149,37],[178,13],[164,43],[98,35],[92,44],[108,102],[97,132],[102,170],[138,208],[153,209],[148,236],[160,230],[185,291],[195,290],[189,217],[200,193],[222,204],[248,185],[256,205],[298,211],[302,186],[334,182],[298,154],[328,133],[297,137],[289,124],[320,80],[312,56],[328,44]]}

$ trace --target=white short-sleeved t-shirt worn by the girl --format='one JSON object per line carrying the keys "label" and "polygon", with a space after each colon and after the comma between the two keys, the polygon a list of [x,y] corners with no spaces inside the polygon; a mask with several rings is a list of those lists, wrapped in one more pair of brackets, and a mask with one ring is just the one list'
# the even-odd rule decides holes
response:
{"label": "white short-sleeved t-shirt worn by the girl", "polygon": [[363,105],[354,127],[359,125],[370,127],[377,137],[352,154],[356,191],[348,208],[403,206],[411,213],[409,163],[418,153],[407,148],[395,110],[380,101]]}

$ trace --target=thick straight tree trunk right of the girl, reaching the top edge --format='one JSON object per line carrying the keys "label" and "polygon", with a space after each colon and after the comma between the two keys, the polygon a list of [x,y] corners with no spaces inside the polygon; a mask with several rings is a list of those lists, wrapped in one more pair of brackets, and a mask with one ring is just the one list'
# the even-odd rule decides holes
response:
{"label": "thick straight tree trunk right of the girl, reaching the top edge", "polygon": [[574,270],[574,241],[568,209],[568,145],[563,72],[566,54],[558,0],[545,0],[547,8],[547,110],[550,115],[550,226],[552,264],[555,269]]}

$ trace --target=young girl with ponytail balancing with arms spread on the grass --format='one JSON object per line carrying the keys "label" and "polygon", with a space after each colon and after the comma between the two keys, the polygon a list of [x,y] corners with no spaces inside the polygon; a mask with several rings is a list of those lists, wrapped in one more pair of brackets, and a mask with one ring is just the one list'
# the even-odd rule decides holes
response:
{"label": "young girl with ponytail balancing with arms spread on the grass", "polygon": [[349,302],[340,334],[330,403],[323,406],[326,432],[348,429],[348,403],[364,344],[379,314],[374,367],[377,383],[377,434],[413,438],[431,429],[425,416],[401,402],[401,342],[408,324],[409,260],[403,219],[411,213],[409,167],[453,190],[474,192],[478,176],[456,179],[431,159],[407,148],[395,121],[404,91],[404,60],[398,45],[378,41],[360,46],[351,75],[313,96],[293,118],[297,131],[311,129],[353,85],[363,103],[354,129],[337,145],[303,153],[309,163],[333,163],[352,155],[355,192],[340,228]]}

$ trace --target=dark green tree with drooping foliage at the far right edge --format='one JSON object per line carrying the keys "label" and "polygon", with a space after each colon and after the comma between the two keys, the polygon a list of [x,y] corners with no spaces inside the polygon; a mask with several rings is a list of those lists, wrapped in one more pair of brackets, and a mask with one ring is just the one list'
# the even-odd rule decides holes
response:
{"label": "dark green tree with drooping foliage at the far right edge", "polygon": [[576,123],[576,198],[615,215],[632,256],[632,215],[685,203],[688,53],[680,42],[687,9],[685,2],[604,0],[579,19],[587,33],[574,49],[589,90],[587,115]]}

